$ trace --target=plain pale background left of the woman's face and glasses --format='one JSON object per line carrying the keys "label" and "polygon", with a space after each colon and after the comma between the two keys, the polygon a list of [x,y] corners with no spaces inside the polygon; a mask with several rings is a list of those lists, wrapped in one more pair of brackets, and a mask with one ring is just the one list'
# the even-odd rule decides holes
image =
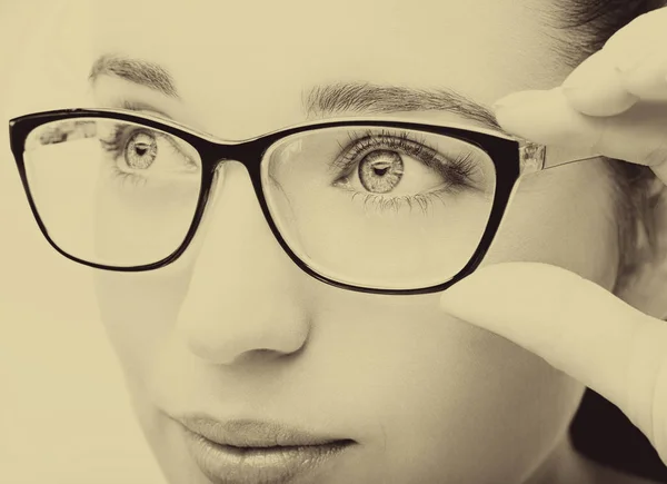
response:
{"label": "plain pale background left of the woman's face and glasses", "polygon": [[76,96],[88,51],[73,39],[86,7],[0,0],[2,484],[165,483],[99,322],[91,273],[42,239],[8,144],[10,117],[84,102]]}

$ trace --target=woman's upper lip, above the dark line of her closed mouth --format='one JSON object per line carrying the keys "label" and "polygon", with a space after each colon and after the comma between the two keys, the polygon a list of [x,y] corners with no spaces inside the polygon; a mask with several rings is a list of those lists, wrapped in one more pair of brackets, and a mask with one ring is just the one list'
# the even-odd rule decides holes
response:
{"label": "woman's upper lip, above the dark line of her closed mouth", "polygon": [[349,438],[315,434],[276,422],[233,419],[219,422],[207,415],[187,415],[177,418],[188,431],[208,441],[232,447],[298,447],[351,443]]}

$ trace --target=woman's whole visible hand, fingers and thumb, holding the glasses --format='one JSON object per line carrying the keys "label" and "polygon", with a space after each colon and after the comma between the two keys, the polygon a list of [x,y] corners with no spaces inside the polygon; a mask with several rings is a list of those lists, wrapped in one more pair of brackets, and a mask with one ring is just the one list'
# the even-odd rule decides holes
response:
{"label": "woman's whole visible hand, fingers and thumb, holding the glasses", "polygon": [[[496,113],[520,137],[650,166],[667,184],[666,101],[664,8],[619,30],[561,87],[510,95]],[[532,263],[481,268],[446,290],[441,306],[605,396],[667,463],[667,323],[568,270]]]}

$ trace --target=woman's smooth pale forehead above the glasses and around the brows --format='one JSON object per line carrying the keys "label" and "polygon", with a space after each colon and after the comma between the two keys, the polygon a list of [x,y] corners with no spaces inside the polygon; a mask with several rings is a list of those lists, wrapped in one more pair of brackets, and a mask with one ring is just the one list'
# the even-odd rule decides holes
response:
{"label": "woman's smooth pale forehead above the glasses and around the brows", "polygon": [[163,2],[92,8],[96,55],[158,62],[211,131],[301,122],[303,93],[354,81],[449,88],[481,103],[551,86],[566,67],[544,27],[552,0]]}

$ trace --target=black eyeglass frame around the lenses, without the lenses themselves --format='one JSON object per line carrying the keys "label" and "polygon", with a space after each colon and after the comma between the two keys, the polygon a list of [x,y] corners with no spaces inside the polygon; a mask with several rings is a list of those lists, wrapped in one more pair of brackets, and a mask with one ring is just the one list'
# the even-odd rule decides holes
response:
{"label": "black eyeglass frame around the lenses, without the lenses themselves", "polygon": [[[128,121],[148,128],[153,128],[162,132],[167,132],[169,135],[181,138],[183,141],[190,144],[199,152],[201,159],[202,178],[199,198],[197,200],[197,207],[195,210],[192,221],[190,224],[190,227],[188,228],[188,231],[181,245],[173,253],[162,258],[161,260],[141,266],[128,267],[117,267],[91,263],[66,253],[49,236],[47,227],[41,220],[41,217],[39,216],[39,211],[34,204],[28,182],[26,164],[23,159],[26,140],[33,129],[47,122],[89,117]],[[271,216],[261,184],[261,162],[265,159],[265,154],[269,150],[269,148],[272,145],[292,135],[326,128],[352,126],[372,126],[380,128],[386,127],[396,129],[410,129],[436,135],[449,136],[476,146],[477,148],[485,151],[494,162],[496,171],[496,190],[487,226],[477,248],[475,249],[468,263],[450,279],[438,285],[411,289],[387,289],[378,287],[357,286],[352,284],[342,283],[340,280],[331,279],[327,276],[323,276],[317,270],[312,269],[310,266],[308,266],[308,264],[301,260],[291,250],[285,238],[280,234],[276,223],[273,221],[273,217]],[[485,132],[487,130],[484,129],[462,128],[457,126],[438,126],[404,120],[384,120],[377,118],[346,118],[303,124],[241,141],[220,140],[212,136],[189,129],[177,122],[172,122],[170,120],[116,109],[77,108],[36,112],[11,119],[9,127],[11,150],[17,162],[19,175],[23,184],[23,189],[26,190],[26,195],[28,197],[28,203],[30,205],[32,215],[34,216],[34,219],[42,235],[47,238],[49,244],[59,254],[61,254],[70,260],[97,269],[123,273],[153,270],[173,263],[186,251],[186,249],[195,238],[195,235],[197,233],[197,229],[199,228],[210,197],[216,169],[221,162],[235,160],[242,164],[248,170],[250,180],[252,182],[252,187],[255,189],[255,194],[261,207],[261,211],[276,240],[278,241],[280,247],[286,251],[286,254],[290,257],[290,259],[301,270],[303,270],[309,276],[335,287],[360,293],[384,295],[416,295],[442,292],[456,284],[457,281],[461,280],[464,277],[472,274],[475,269],[481,264],[484,257],[486,256],[488,249],[491,246],[494,237],[496,236],[498,228],[500,227],[500,223],[502,221],[502,217],[509,204],[517,180],[522,175],[522,172],[544,169],[545,157],[545,149],[539,145],[512,139],[510,137],[506,138],[499,134]]]}

